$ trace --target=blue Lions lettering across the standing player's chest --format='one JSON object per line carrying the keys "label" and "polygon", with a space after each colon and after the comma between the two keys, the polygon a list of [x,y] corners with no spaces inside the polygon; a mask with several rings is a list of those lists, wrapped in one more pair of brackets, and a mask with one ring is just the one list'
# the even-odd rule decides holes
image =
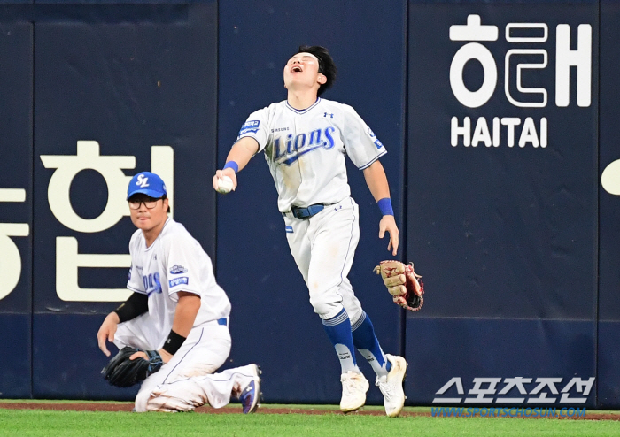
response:
{"label": "blue Lions lettering across the standing player's chest", "polygon": [[336,145],[333,135],[335,132],[336,127],[328,126],[307,134],[298,134],[296,136],[288,134],[285,137],[275,138],[272,159],[277,164],[291,165],[299,157],[311,151],[333,149]]}

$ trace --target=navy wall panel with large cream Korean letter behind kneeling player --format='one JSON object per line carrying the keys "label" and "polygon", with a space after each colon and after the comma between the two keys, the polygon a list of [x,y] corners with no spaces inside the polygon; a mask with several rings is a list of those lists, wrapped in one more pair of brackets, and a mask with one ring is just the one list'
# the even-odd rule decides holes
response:
{"label": "navy wall panel with large cream Korean letter behind kneeling player", "polygon": [[99,374],[96,335],[130,295],[131,176],[158,173],[170,216],[214,257],[217,9],[190,9],[185,21],[35,24],[36,395],[120,395]]}

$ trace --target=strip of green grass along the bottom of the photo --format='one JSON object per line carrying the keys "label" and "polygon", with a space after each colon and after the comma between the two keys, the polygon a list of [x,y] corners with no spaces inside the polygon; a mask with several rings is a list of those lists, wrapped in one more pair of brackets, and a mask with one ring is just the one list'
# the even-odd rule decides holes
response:
{"label": "strip of green grass along the bottom of the photo", "polygon": [[[291,406],[289,406],[291,407]],[[332,407],[333,408],[333,407]],[[263,410],[267,412],[268,409]],[[620,422],[340,414],[135,414],[0,410],[0,436],[616,436]]]}

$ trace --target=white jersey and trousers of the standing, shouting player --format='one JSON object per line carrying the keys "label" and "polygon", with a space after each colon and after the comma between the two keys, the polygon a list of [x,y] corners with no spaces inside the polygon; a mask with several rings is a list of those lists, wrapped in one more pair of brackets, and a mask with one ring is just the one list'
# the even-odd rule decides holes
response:
{"label": "white jersey and trousers of the standing, shouting player", "polygon": [[[238,139],[254,138],[278,192],[291,254],[321,318],[343,306],[351,323],[360,318],[360,302],[346,276],[360,239],[358,206],[350,197],[345,155],[360,170],[386,150],[351,106],[322,98],[303,111],[287,101],[253,112]],[[309,219],[295,219],[291,207],[322,203]]]}

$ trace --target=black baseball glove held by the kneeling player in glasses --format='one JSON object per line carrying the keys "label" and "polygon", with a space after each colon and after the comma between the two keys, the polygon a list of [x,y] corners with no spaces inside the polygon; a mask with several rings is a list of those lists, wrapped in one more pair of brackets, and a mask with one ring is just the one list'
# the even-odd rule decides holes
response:
{"label": "black baseball glove held by the kneeling player in glasses", "polygon": [[[144,352],[149,359],[145,360],[142,357],[129,359],[136,352]],[[162,364],[164,362],[157,350],[142,350],[126,346],[110,360],[101,374],[111,386],[131,387],[159,371]]]}

